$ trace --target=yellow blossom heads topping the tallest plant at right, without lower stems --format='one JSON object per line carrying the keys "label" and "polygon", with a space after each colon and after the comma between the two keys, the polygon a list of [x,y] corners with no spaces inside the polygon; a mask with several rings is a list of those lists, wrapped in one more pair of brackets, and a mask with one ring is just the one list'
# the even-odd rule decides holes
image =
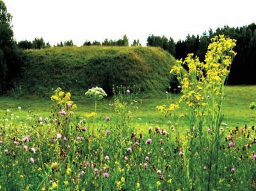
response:
{"label": "yellow blossom heads topping the tallest plant at right, without lower stems", "polygon": [[[221,88],[228,76],[232,59],[236,56],[234,46],[236,40],[225,38],[224,35],[211,39],[205,55],[205,63],[197,56],[188,54],[184,61],[177,61],[170,73],[177,76],[183,95],[179,102],[186,102],[193,109],[207,106],[207,95],[221,97]],[[182,65],[188,66],[188,72],[182,75]],[[162,109],[162,108],[161,108]]]}

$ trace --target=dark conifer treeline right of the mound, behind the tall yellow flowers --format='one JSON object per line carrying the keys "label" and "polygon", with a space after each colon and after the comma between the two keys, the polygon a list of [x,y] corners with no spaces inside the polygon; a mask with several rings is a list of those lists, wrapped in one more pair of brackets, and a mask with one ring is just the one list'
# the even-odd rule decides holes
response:
{"label": "dark conifer treeline right of the mound, behind the tall yellow flowers", "polygon": [[230,68],[230,75],[227,84],[256,84],[256,25],[254,23],[243,27],[221,27],[201,36],[192,35],[186,37],[186,40],[173,42],[173,39],[166,36],[148,36],[147,45],[152,47],[161,47],[170,52],[176,59],[185,58],[188,53],[193,53],[204,61],[205,52],[211,42],[211,38],[216,34],[225,34],[230,38],[237,40],[235,51],[236,57]]}

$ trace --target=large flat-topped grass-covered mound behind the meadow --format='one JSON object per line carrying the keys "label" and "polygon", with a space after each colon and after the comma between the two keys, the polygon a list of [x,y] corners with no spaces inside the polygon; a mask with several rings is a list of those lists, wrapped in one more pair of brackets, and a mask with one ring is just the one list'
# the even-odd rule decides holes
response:
{"label": "large flat-topped grass-covered mound behind the meadow", "polygon": [[99,86],[108,94],[113,85],[143,92],[165,91],[175,59],[156,47],[54,47],[26,50],[17,90],[47,96],[57,87],[74,95]]}

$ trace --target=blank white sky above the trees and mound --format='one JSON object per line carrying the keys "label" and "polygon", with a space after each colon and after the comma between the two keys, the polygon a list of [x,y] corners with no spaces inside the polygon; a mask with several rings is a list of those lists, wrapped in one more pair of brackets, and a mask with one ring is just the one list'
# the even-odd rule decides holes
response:
{"label": "blank white sky above the trees and mound", "polygon": [[127,34],[142,45],[149,34],[177,41],[211,27],[256,22],[255,0],[3,0],[17,41],[43,37],[51,45],[102,42]]}

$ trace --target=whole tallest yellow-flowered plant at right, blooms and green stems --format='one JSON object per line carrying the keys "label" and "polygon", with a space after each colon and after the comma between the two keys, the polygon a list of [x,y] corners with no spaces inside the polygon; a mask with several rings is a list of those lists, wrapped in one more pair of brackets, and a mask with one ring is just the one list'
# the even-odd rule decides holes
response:
{"label": "whole tallest yellow-flowered plant at right, blooms and green stems", "polygon": [[[208,190],[212,183],[211,171],[218,170],[218,148],[220,146],[220,126],[223,118],[221,106],[224,99],[224,84],[230,72],[230,66],[236,52],[232,50],[236,40],[218,35],[211,39],[205,61],[200,62],[197,56],[188,54],[188,57],[177,61],[170,73],[176,75],[182,86],[182,96],[179,103],[185,102],[188,106],[188,117],[191,132],[198,130],[199,144],[202,148],[202,138],[208,137],[209,141],[209,177],[207,178]],[[182,73],[182,65],[188,67],[187,73]],[[207,128],[210,135],[205,135],[203,128]],[[193,154],[193,137],[189,143],[191,155]],[[194,141],[195,142],[195,141]],[[185,148],[186,149],[186,148]],[[204,153],[200,153],[204,158]],[[193,165],[193,158],[186,157],[189,178],[189,169]],[[202,160],[201,160],[202,162]],[[203,166],[204,164],[202,164]],[[203,169],[202,169],[203,171]],[[203,174],[203,172],[201,173]],[[203,177],[201,177],[203,178]],[[217,180],[214,180],[216,183]]]}

